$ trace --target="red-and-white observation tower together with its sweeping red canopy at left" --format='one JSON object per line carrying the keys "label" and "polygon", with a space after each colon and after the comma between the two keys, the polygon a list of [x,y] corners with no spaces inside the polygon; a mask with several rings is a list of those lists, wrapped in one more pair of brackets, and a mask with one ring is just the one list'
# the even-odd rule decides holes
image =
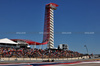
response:
{"label": "red-and-white observation tower together with its sweeping red canopy at left", "polygon": [[15,42],[26,42],[29,45],[45,45],[47,44],[47,48],[52,49],[54,47],[54,10],[58,5],[55,3],[49,3],[45,6],[45,18],[44,18],[44,33],[43,33],[43,41],[35,42],[32,40],[26,39],[11,39]]}

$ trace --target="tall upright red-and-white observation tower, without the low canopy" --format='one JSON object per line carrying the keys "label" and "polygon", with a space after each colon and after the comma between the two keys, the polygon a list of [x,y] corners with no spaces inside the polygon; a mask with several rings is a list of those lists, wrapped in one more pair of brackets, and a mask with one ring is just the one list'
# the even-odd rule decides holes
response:
{"label": "tall upright red-and-white observation tower, without the low canopy", "polygon": [[47,48],[54,47],[54,10],[57,6],[55,3],[49,3],[45,6],[43,42],[48,41]]}

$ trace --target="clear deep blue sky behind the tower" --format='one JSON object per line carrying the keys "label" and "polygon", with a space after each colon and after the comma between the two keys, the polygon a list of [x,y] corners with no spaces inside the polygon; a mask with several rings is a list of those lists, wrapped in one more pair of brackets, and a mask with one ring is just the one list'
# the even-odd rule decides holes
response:
{"label": "clear deep blue sky behind the tower", "polygon": [[89,53],[100,53],[100,0],[0,0],[0,38],[42,42],[45,5],[50,2],[59,5],[55,47],[65,43],[70,50],[86,53],[87,45]]}

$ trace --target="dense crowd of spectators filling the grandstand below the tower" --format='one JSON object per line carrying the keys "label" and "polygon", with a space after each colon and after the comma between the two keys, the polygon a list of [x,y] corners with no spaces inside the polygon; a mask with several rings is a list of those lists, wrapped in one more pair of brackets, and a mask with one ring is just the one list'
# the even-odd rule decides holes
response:
{"label": "dense crowd of spectators filling the grandstand below the tower", "polygon": [[72,58],[82,54],[70,50],[48,50],[31,48],[0,48],[0,57],[9,58]]}

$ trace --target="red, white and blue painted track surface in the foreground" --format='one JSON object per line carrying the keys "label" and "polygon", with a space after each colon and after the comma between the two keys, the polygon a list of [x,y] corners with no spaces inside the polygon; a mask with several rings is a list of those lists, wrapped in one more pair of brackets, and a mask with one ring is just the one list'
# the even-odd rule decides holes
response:
{"label": "red, white and blue painted track surface in the foreground", "polygon": [[100,61],[63,62],[63,63],[16,63],[0,64],[0,66],[100,66]]}

